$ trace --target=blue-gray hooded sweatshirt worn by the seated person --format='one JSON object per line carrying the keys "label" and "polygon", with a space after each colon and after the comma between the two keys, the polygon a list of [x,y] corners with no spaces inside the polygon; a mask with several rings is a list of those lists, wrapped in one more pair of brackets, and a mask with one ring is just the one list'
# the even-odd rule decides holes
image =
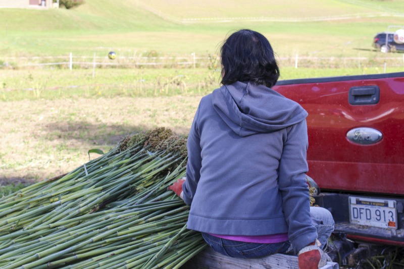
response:
{"label": "blue-gray hooded sweatshirt worn by the seated person", "polygon": [[295,253],[314,242],[307,115],[298,103],[252,83],[224,85],[203,97],[187,141],[188,229],[288,233]]}

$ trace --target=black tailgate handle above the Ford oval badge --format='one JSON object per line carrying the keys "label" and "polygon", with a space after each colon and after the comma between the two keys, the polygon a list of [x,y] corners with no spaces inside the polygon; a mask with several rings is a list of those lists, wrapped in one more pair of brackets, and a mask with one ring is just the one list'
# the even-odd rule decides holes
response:
{"label": "black tailgate handle above the Ford oval badge", "polygon": [[380,89],[376,85],[352,87],[349,89],[348,101],[353,105],[376,104],[380,99]]}

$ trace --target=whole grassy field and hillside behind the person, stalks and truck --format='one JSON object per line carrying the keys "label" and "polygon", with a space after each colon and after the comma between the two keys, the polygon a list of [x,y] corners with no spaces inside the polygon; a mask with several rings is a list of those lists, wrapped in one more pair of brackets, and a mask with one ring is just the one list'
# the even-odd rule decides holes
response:
{"label": "whole grassy field and hillside behind the person, stalks and truck", "polygon": [[[106,57],[112,49],[118,55],[115,63],[130,56],[189,57],[193,52],[214,59],[226,35],[251,28],[271,41],[281,79],[375,74],[383,72],[384,55],[372,49],[373,36],[402,24],[404,10],[402,1],[246,3],[86,0],[72,10],[0,9],[0,130],[6,134],[0,141],[0,178],[42,180],[68,172],[86,161],[88,149],[112,147],[137,130],[164,125],[186,133],[198,100],[219,85],[220,74],[213,63],[196,68],[105,66],[96,68],[94,77],[91,65],[75,65],[70,71],[67,65],[22,64],[67,61],[43,57],[67,57],[70,52],[91,62],[94,52]],[[184,20],[198,18],[219,20]],[[298,69],[296,54],[309,58]],[[402,71],[402,53],[390,54],[398,60],[387,65],[387,72]],[[352,57],[366,60],[345,62]]]}

